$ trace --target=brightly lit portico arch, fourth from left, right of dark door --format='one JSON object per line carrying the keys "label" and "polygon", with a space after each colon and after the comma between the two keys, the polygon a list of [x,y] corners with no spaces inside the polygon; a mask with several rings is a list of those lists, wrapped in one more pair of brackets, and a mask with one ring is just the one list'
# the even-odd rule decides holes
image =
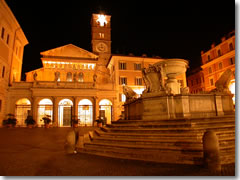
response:
{"label": "brightly lit portico arch, fourth from left, right of dark door", "polygon": [[78,118],[81,126],[93,125],[93,106],[89,99],[82,99],[78,103]]}

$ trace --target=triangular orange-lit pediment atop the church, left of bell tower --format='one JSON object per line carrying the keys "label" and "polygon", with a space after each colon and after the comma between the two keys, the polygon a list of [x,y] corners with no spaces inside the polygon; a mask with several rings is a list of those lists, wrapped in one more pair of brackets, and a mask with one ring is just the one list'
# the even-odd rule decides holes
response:
{"label": "triangular orange-lit pediment atop the church, left of bell tower", "polygon": [[77,47],[73,44],[57,47],[40,53],[43,56],[53,57],[74,57],[74,58],[93,58],[96,59],[98,56],[85,49]]}

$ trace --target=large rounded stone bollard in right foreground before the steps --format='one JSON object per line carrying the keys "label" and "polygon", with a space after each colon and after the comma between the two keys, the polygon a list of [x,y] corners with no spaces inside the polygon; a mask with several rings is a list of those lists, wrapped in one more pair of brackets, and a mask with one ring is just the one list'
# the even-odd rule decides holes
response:
{"label": "large rounded stone bollard in right foreground before the steps", "polygon": [[218,137],[214,131],[207,131],[203,135],[204,165],[213,175],[221,174],[221,162]]}

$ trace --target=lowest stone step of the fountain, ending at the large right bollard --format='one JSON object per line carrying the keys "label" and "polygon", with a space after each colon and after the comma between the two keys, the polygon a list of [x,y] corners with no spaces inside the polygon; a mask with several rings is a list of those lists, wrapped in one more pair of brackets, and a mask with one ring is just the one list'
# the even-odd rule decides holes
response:
{"label": "lowest stone step of the fountain, ending at the large right bollard", "polygon": [[98,145],[85,145],[81,152],[97,154],[101,156],[135,159],[161,163],[177,164],[202,164],[202,152],[197,151],[176,151],[176,150],[152,150],[152,149],[132,149],[128,147],[109,147]]}

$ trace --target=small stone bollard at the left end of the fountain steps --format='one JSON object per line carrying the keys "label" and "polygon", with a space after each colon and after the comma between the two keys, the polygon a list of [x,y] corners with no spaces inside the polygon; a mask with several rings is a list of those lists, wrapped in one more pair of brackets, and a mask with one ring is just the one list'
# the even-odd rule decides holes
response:
{"label": "small stone bollard at the left end of the fountain steps", "polygon": [[76,154],[77,153],[77,151],[75,150],[76,142],[77,142],[77,138],[78,138],[76,136],[76,134],[77,133],[74,129],[71,129],[67,133],[66,142],[65,142],[65,146],[64,146],[64,149],[67,154]]}

